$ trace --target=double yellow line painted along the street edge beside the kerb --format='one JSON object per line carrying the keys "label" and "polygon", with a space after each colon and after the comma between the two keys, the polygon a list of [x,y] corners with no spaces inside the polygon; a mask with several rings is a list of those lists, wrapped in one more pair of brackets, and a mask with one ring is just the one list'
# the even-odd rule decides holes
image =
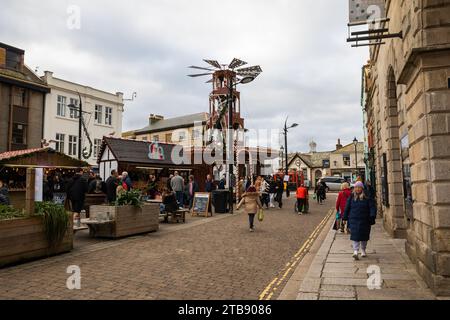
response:
{"label": "double yellow line painted along the street edge beside the kerb", "polygon": [[322,229],[327,224],[328,219],[333,215],[334,211],[330,210],[330,212],[326,215],[326,217],[319,223],[319,225],[314,229],[309,238],[305,241],[303,246],[297,251],[294,257],[290,262],[286,264],[284,269],[279,273],[281,276],[275,277],[272,282],[264,289],[264,291],[259,295],[259,300],[270,300],[275,292],[278,290],[278,287],[281,283],[288,277],[288,275],[295,270],[296,265],[300,262],[303,256],[311,249],[314,241],[319,236]]}

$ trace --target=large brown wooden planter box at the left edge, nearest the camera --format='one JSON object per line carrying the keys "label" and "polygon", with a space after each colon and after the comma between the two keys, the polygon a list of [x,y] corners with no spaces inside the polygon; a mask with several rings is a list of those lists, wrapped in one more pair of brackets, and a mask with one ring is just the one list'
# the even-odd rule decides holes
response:
{"label": "large brown wooden planter box at the left edge, nearest the camera", "polygon": [[0,267],[49,257],[73,249],[73,214],[63,241],[50,248],[41,217],[0,221]]}

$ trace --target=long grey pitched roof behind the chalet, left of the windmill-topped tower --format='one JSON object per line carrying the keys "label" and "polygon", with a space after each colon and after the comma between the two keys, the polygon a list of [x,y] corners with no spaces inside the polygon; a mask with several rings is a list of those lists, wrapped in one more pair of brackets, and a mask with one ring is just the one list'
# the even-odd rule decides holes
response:
{"label": "long grey pitched roof behind the chalet, left of the windmill-topped tower", "polygon": [[153,124],[150,124],[142,129],[136,130],[136,134],[145,134],[145,133],[153,133],[160,132],[165,130],[173,130],[180,128],[187,128],[194,126],[195,122],[205,123],[208,120],[208,113],[194,113],[176,118],[162,119],[156,121]]}

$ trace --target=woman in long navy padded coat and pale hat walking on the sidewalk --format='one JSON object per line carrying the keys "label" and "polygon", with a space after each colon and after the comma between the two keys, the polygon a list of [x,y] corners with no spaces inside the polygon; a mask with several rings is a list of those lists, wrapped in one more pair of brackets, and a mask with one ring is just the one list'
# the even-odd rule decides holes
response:
{"label": "woman in long navy padded coat and pale hat walking on the sidewalk", "polygon": [[365,195],[364,184],[357,182],[344,210],[344,221],[348,221],[350,240],[353,241],[353,259],[359,260],[360,249],[361,257],[367,257],[367,242],[370,240],[371,226],[375,224],[376,217],[375,202]]}

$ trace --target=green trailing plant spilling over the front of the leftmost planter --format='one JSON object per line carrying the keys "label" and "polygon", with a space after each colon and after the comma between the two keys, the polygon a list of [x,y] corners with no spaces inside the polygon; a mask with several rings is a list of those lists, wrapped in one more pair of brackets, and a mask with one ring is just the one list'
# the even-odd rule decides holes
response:
{"label": "green trailing plant spilling over the front of the leftmost planter", "polygon": [[42,216],[44,232],[51,247],[62,242],[69,226],[69,214],[64,206],[52,202],[36,202],[35,215]]}

